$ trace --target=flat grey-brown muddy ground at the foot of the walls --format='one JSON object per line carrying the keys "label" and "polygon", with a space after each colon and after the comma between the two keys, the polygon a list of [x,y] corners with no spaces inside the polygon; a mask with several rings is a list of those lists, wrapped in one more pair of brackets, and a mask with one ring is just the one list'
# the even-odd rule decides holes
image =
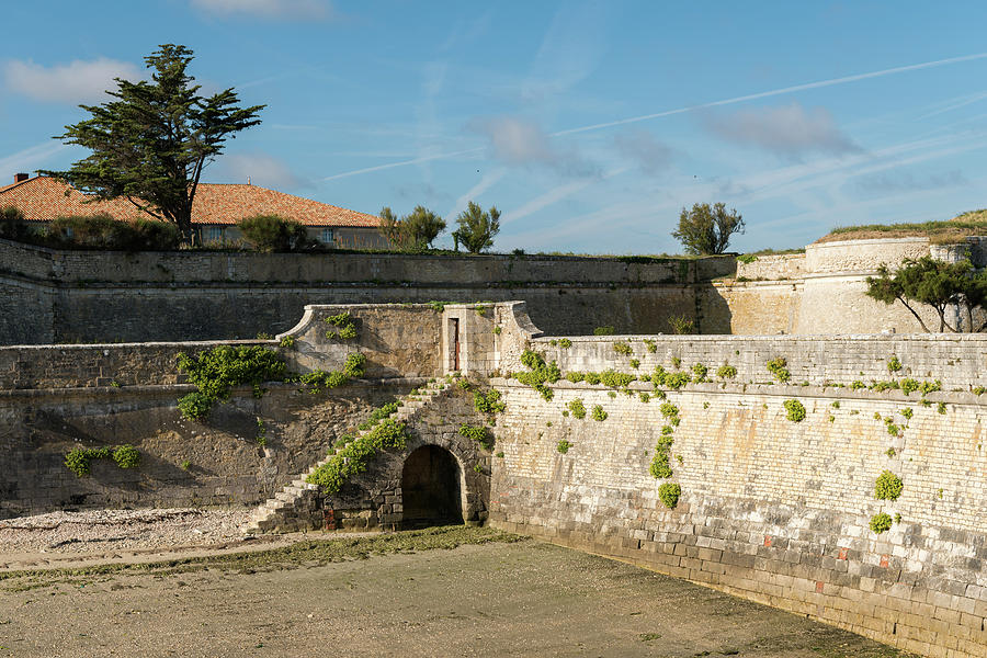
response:
{"label": "flat grey-brown muddy ground at the foot of the walls", "polygon": [[151,565],[0,572],[0,656],[905,656],[496,530],[313,536]]}

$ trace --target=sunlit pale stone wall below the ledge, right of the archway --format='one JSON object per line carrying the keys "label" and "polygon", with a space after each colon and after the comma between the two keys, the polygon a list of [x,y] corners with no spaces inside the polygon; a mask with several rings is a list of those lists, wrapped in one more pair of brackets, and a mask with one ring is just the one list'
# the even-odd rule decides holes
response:
{"label": "sunlit pale stone wall below the ledge, right of the archway", "polygon": [[[674,427],[662,400],[638,397],[650,386],[611,397],[560,382],[546,402],[514,381],[495,384],[507,404],[491,488],[498,527],[922,655],[987,656],[987,408],[975,396],[931,394],[924,407],[898,392],[701,384],[668,393]],[[582,420],[564,413],[577,398]],[[806,410],[798,423],[783,407],[796,398]],[[605,420],[591,419],[597,405]],[[665,426],[669,481],[681,487],[674,509],[659,498],[666,480],[649,474]],[[885,469],[904,483],[896,501],[875,499]],[[876,534],[869,524],[878,512],[899,521]]]}

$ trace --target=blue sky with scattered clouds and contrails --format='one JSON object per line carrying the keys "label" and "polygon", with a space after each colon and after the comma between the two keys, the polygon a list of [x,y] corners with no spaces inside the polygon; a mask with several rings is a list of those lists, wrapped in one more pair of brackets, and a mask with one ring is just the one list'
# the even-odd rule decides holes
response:
{"label": "blue sky with scattered clouds and contrails", "polygon": [[[982,2],[10,2],[0,182],[84,155],[52,139],[195,52],[207,90],[265,103],[209,182],[446,218],[503,213],[496,250],[678,252],[722,201],[739,251],[987,206]],[[446,234],[447,236],[447,234]],[[450,243],[446,237],[440,242]]]}

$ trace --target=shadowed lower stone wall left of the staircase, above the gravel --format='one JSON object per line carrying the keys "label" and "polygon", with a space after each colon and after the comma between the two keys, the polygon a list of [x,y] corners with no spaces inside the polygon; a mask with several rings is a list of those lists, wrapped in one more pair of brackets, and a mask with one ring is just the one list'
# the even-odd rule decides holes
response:
{"label": "shadowed lower stone wall left of the staircase, above the gravel", "polygon": [[[182,418],[191,386],[0,390],[0,519],[63,509],[254,506],[326,454],[374,407],[420,381],[355,382],[310,395],[268,385],[235,392],[202,422]],[[140,466],[65,466],[73,447],[129,443]]]}

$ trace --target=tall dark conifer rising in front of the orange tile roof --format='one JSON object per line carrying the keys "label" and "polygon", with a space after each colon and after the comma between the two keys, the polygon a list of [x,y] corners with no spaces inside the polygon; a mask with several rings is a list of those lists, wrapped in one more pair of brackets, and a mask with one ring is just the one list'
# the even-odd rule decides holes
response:
{"label": "tall dark conifer rising in front of the orange tile roof", "polygon": [[68,171],[43,171],[97,200],[126,198],[137,208],[178,226],[192,239],[192,202],[206,164],[223,152],[227,138],[260,123],[264,105],[239,107],[232,89],[198,95],[185,75],[192,50],[164,44],[144,58],[148,82],[116,78],[116,100],[80,105],[92,118],[66,126],[56,137],[92,154]]}

